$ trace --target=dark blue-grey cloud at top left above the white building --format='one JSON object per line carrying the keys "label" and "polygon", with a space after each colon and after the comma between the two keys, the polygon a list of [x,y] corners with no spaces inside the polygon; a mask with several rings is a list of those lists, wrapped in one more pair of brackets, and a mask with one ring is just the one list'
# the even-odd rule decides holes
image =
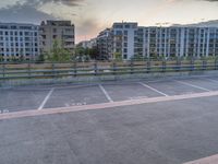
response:
{"label": "dark blue-grey cloud at top left above the white building", "polygon": [[[47,3],[63,4],[68,7],[82,5],[84,0],[25,0],[0,9],[2,22],[24,22],[39,24],[43,20],[57,20],[57,15],[41,11],[40,7]],[[71,15],[75,16],[74,13]]]}

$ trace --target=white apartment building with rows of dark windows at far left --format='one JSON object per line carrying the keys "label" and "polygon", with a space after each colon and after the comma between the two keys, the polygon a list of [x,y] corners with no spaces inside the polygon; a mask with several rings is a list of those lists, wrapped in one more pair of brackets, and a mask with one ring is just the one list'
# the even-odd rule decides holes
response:
{"label": "white apartment building with rows of dark windows at far left", "polygon": [[39,55],[40,35],[38,25],[0,23],[1,60],[35,60]]}

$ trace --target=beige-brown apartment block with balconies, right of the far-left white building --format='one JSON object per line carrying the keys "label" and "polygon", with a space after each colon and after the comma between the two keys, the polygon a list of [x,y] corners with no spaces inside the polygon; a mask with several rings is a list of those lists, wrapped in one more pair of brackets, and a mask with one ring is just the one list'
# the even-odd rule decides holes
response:
{"label": "beige-brown apartment block with balconies, right of the far-left white building", "polygon": [[43,51],[50,51],[57,40],[62,48],[73,52],[75,46],[74,25],[71,21],[47,21],[40,25]]}

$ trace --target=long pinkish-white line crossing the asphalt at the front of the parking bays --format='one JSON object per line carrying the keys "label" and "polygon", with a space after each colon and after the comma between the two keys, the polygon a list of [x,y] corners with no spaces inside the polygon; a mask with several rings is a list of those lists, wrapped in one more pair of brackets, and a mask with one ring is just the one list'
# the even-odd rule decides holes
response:
{"label": "long pinkish-white line crossing the asphalt at the front of the parking bays", "polygon": [[50,109],[48,108],[48,109],[41,109],[41,110],[32,109],[32,110],[1,114],[0,120],[24,118],[24,117],[36,117],[36,116],[53,115],[53,114],[66,114],[66,113],[84,112],[84,110],[86,112],[86,110],[97,110],[97,109],[114,109],[114,107],[133,106],[133,105],[152,104],[152,103],[164,103],[164,102],[172,102],[172,101],[184,101],[184,99],[211,97],[211,96],[218,96],[218,91],[185,94],[185,95],[149,97],[149,98],[142,98],[142,99],[102,103],[102,104],[94,104],[94,105],[82,105],[82,106],[71,106],[71,107],[50,108]]}

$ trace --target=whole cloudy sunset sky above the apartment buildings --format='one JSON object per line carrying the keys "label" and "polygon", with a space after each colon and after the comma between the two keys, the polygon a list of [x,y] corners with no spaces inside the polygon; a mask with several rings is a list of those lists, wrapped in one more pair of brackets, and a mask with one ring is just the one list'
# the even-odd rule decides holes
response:
{"label": "whole cloudy sunset sky above the apartment buildings", "polygon": [[71,20],[78,43],[113,22],[150,26],[218,20],[218,0],[0,0],[0,22],[44,20]]}

